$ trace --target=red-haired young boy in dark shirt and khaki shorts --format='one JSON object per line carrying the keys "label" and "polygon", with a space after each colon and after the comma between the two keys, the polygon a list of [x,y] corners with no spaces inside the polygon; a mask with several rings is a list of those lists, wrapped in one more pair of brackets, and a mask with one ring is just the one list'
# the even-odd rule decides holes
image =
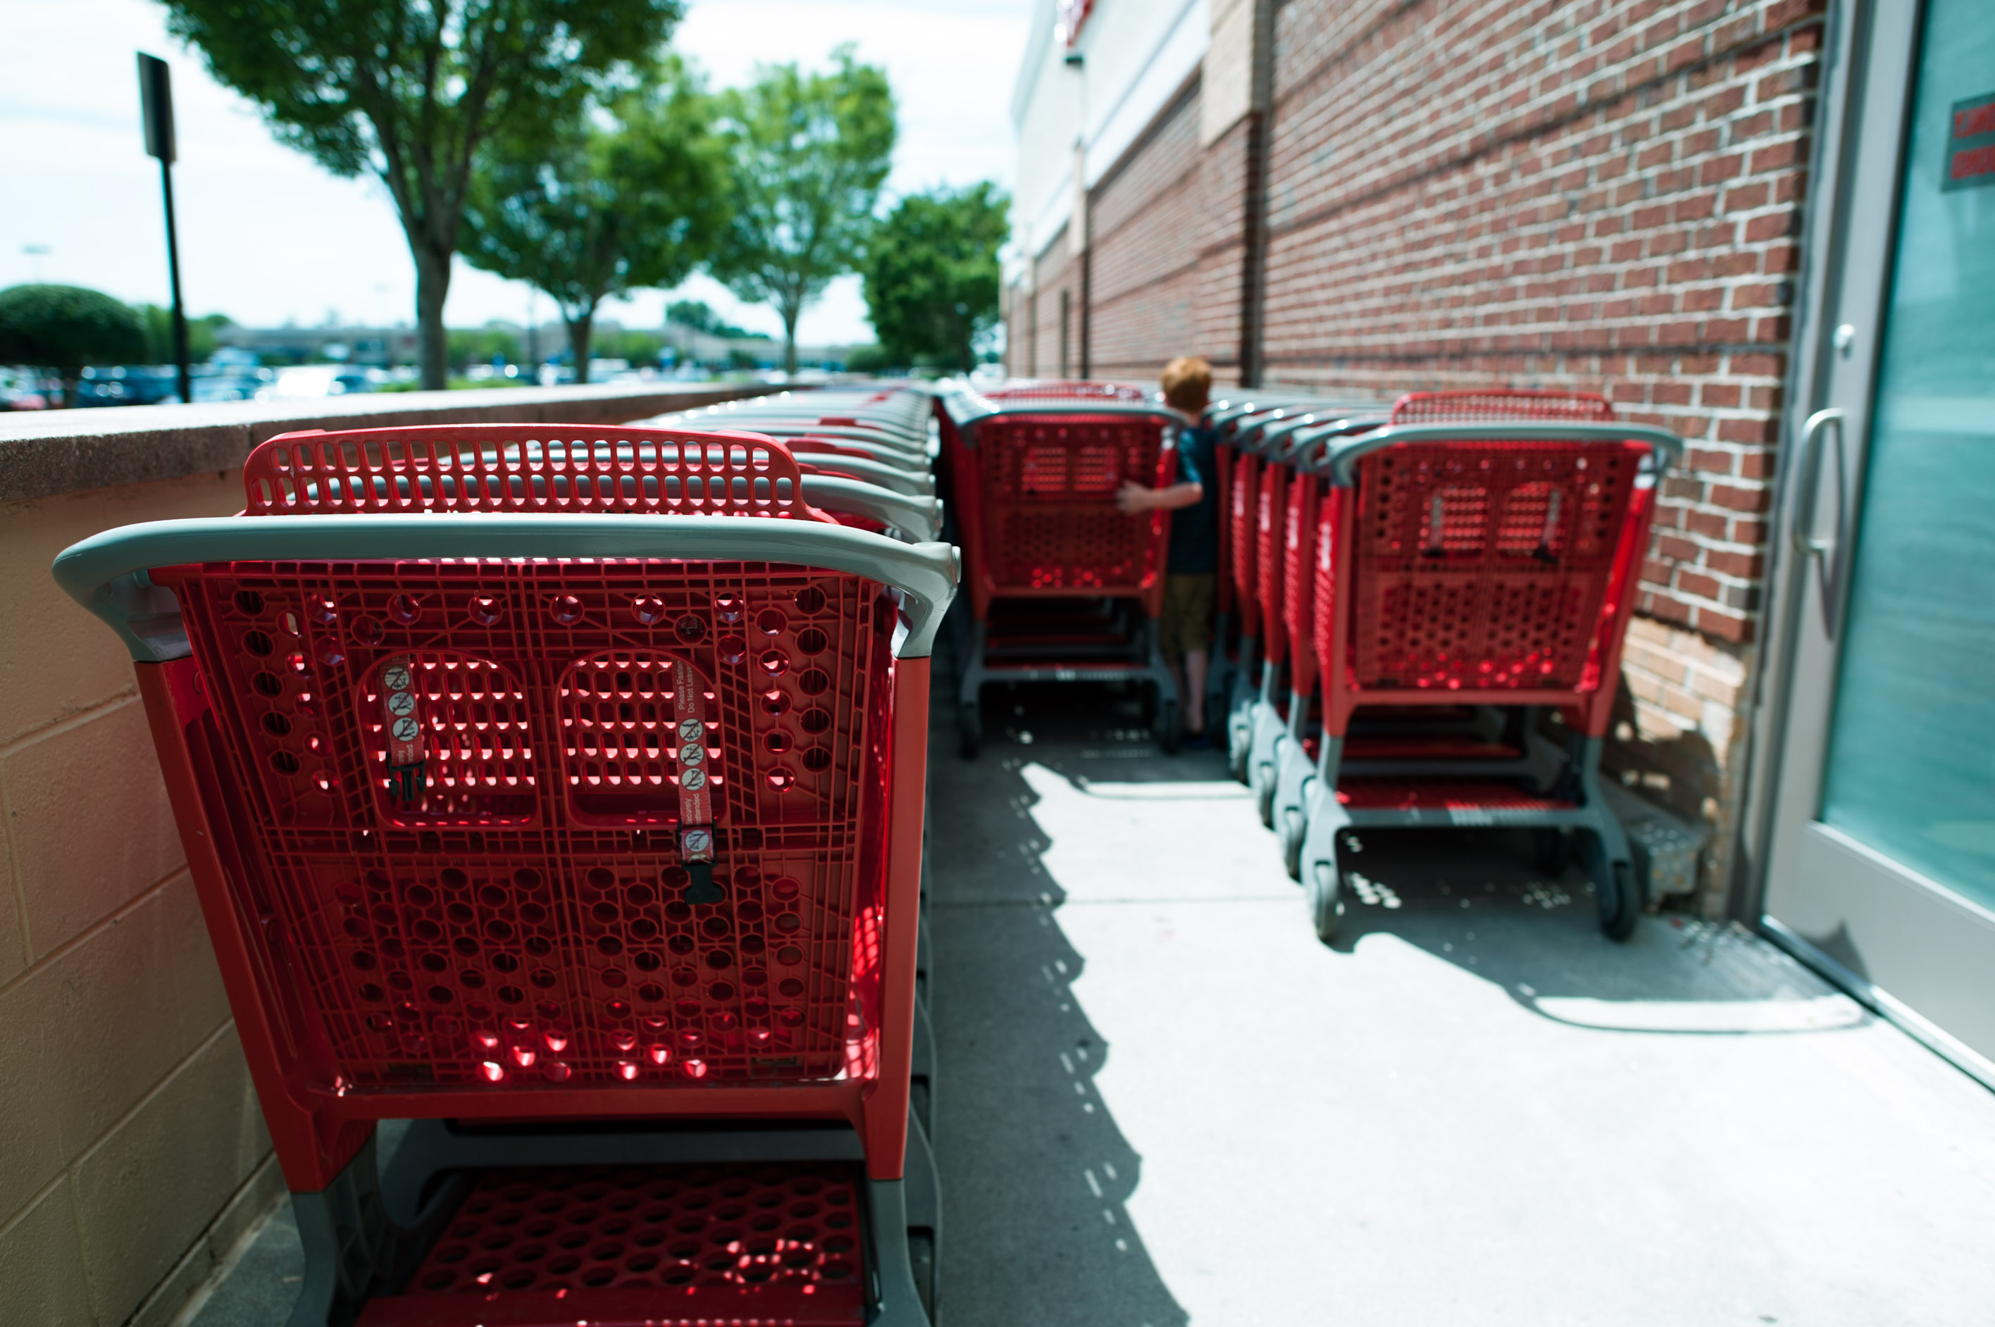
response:
{"label": "red-haired young boy in dark shirt and khaki shorts", "polygon": [[1203,423],[1211,391],[1213,365],[1203,359],[1179,357],[1163,365],[1165,403],[1193,421],[1177,435],[1177,483],[1165,489],[1125,483],[1115,495],[1115,507],[1129,515],[1171,513],[1171,553],[1157,635],[1177,694],[1183,696],[1187,750],[1211,746],[1205,736],[1205,668],[1213,633],[1213,583],[1219,573],[1219,475],[1213,469],[1213,431]]}

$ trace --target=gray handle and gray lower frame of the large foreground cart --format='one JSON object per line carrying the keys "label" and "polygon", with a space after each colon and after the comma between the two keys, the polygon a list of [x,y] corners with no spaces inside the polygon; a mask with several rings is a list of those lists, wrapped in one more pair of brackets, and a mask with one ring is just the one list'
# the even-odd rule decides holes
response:
{"label": "gray handle and gray lower frame of the large foreground cart", "polygon": [[[896,655],[922,659],[956,593],[956,549],[904,545],[816,521],[768,517],[640,515],[317,515],[209,517],[128,525],[64,549],[56,583],[126,643],[138,663],[190,657],[180,601],[154,585],[154,567],[231,561],[415,561],[415,559],[660,559],[758,561],[862,575],[900,593],[906,611]],[[926,1020],[918,1020],[926,1022]],[[932,1058],[930,1058],[932,1060]],[[942,1205],[928,1123],[910,1106],[902,1179],[868,1179],[874,1237],[874,1323],[926,1327]],[[395,1289],[457,1209],[465,1167],[648,1165],[666,1161],[864,1159],[844,1125],[620,1131],[453,1131],[425,1121],[397,1149],[391,1171],[377,1167],[369,1137],[361,1153],[319,1193],[293,1193],[305,1245],[305,1279],[291,1327],[325,1327],[369,1293]],[[908,1239],[882,1239],[904,1229]],[[918,1269],[916,1263],[922,1263]],[[922,1273],[928,1293],[918,1285]]]}

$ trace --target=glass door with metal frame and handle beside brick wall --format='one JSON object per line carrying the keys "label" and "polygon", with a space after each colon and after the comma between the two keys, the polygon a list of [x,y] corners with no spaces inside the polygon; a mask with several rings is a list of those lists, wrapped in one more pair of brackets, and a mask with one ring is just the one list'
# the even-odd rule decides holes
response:
{"label": "glass door with metal frame and handle beside brick wall", "polygon": [[1766,920],[1995,1084],[1995,4],[1849,8]]}

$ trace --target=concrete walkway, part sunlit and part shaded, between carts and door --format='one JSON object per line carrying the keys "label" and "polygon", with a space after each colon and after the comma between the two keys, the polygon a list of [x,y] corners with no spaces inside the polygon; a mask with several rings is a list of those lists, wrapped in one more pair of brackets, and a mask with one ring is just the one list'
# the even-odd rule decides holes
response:
{"label": "concrete walkway, part sunlit and part shaded, between carts and door", "polygon": [[[1327,948],[1219,754],[994,686],[966,762],[942,698],[944,1327],[1995,1321],[1995,1094],[1764,942],[1460,832]],[[279,1209],[194,1321],[297,1275]]]}

